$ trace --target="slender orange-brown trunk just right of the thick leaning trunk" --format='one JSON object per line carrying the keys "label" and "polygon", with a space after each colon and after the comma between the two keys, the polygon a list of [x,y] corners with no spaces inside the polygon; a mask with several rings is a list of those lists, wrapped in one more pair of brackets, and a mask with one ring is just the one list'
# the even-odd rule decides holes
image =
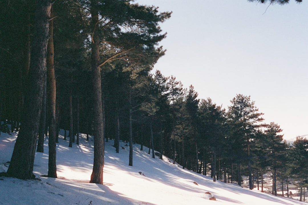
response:
{"label": "slender orange-brown trunk just right of the thick leaning trunk", "polygon": [[[51,9],[51,17],[53,12]],[[48,177],[57,178],[56,166],[56,80],[54,66],[53,20],[49,22],[49,40],[47,45],[47,103],[48,103]]]}

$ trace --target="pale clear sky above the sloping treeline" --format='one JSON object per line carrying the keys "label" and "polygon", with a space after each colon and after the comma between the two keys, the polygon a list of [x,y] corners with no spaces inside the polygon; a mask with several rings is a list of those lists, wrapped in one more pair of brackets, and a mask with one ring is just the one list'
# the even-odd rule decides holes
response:
{"label": "pale clear sky above the sloping treeline", "polygon": [[288,5],[246,0],[137,0],[172,11],[161,24],[167,52],[154,66],[199,98],[228,108],[236,94],[251,96],[265,123],[284,139],[308,135],[308,2]]}

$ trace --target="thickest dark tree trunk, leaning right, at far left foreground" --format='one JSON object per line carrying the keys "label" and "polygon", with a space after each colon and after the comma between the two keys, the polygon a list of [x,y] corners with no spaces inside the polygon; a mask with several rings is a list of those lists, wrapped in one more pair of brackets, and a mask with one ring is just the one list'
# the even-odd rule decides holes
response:
{"label": "thickest dark tree trunk, leaning right, at far left foreground", "polygon": [[25,92],[22,123],[14,145],[7,176],[33,179],[34,154],[46,84],[46,55],[51,3],[36,5],[31,62]]}

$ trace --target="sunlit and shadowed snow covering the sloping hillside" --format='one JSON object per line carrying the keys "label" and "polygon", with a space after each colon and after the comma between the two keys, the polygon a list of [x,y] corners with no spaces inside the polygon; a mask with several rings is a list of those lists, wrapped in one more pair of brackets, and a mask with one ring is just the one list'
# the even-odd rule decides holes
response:
{"label": "sunlit and shadowed snow covering the sloping hillside", "polygon": [[[210,177],[170,163],[166,157],[153,159],[152,153],[148,155],[148,148],[140,151],[139,144],[133,145],[133,166],[128,166],[129,147],[120,142],[120,153],[116,153],[113,140],[105,143],[104,184],[88,183],[93,165],[93,138],[90,136],[86,141],[82,135],[79,145],[69,148],[69,142],[63,140],[63,131],[61,134],[57,143],[58,178],[41,176],[48,172],[47,138],[44,153],[35,154],[34,174],[38,180],[0,177],[0,204],[306,204],[234,184],[213,182]],[[16,132],[1,133],[0,172],[7,170],[16,137]],[[217,201],[209,200],[212,196]]]}

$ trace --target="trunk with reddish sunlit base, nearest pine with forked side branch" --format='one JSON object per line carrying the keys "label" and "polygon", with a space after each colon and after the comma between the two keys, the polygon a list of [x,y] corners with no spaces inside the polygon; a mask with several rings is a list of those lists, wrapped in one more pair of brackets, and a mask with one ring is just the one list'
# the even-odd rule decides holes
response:
{"label": "trunk with reddish sunlit base, nearest pine with forked side branch", "polygon": [[102,109],[102,88],[99,67],[99,12],[98,0],[91,0],[91,25],[93,29],[91,43],[91,69],[93,83],[93,137],[94,160],[90,183],[103,184],[104,168],[104,127]]}

